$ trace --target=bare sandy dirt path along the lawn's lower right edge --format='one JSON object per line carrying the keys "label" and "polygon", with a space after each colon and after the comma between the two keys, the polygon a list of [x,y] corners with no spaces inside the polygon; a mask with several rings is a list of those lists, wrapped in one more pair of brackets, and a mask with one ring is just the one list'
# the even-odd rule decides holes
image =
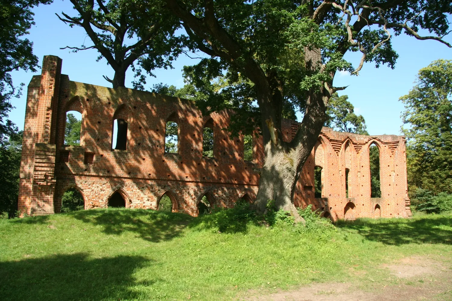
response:
{"label": "bare sandy dirt path along the lawn's lower right edge", "polygon": [[[259,296],[252,294],[246,301],[414,301],[452,300],[452,269],[439,262],[421,257],[400,260],[399,264],[383,265],[399,278],[428,276],[428,280],[411,282],[412,285],[385,286],[373,292],[364,292],[353,283],[320,283],[297,290]],[[446,294],[443,294],[446,293]]]}

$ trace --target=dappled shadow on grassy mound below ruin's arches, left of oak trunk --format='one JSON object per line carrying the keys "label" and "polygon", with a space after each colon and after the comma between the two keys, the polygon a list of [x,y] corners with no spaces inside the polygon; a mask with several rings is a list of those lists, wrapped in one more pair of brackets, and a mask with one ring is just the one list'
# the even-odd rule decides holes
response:
{"label": "dappled shadow on grassy mound below ruin's arches, left of oak trunk", "polygon": [[104,227],[102,232],[119,235],[135,232],[146,241],[168,241],[184,230],[193,217],[184,213],[145,209],[92,209],[70,213],[83,222]]}

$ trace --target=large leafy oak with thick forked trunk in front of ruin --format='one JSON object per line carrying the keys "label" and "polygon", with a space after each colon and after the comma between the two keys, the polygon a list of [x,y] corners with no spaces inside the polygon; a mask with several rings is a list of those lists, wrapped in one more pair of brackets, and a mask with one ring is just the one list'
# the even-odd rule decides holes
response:
{"label": "large leafy oak with thick forked trunk in front of ruin", "polygon": [[[448,33],[449,0],[168,0],[196,47],[210,56],[186,71],[208,97],[199,106],[208,113],[235,109],[232,130],[256,125],[264,138],[264,167],[255,201],[264,212],[268,200],[291,211],[294,187],[327,120],[329,99],[339,70],[358,74],[365,62],[395,65],[391,35],[443,40]],[[422,36],[426,29],[430,36]],[[344,59],[360,51],[356,68]],[[187,72],[186,72],[187,73]],[[228,88],[212,90],[226,75]],[[235,96],[226,101],[227,96]],[[364,96],[363,96],[364,97]],[[253,99],[257,100],[254,105]],[[304,113],[292,141],[282,140],[285,107]]]}

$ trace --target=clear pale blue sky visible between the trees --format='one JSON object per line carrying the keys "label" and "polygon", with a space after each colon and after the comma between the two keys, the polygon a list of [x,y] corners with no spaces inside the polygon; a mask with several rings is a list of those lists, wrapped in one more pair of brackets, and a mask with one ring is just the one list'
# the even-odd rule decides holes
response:
{"label": "clear pale blue sky visible between the trees", "polygon": [[[110,87],[102,75],[113,78],[113,69],[107,65],[105,59],[96,62],[98,52],[96,50],[79,51],[71,53],[61,50],[64,46],[91,46],[89,37],[81,28],[70,28],[61,22],[55,15],[61,15],[64,11],[69,15],[76,15],[69,0],[56,0],[52,5],[41,5],[33,9],[36,25],[30,30],[27,38],[34,42],[33,52],[39,61],[45,55],[59,56],[63,60],[62,73],[68,74],[74,81],[91,83]],[[428,35],[428,32],[423,33]],[[452,42],[452,34],[445,38]],[[367,130],[371,135],[400,134],[400,112],[403,104],[398,101],[400,96],[409,92],[414,86],[414,80],[419,69],[427,66],[433,60],[452,60],[452,49],[437,41],[419,41],[413,37],[401,35],[393,37],[392,44],[400,55],[395,69],[386,66],[375,68],[372,63],[364,64],[359,76],[337,74],[334,85],[338,87],[348,86],[339,95],[347,94],[349,101],[355,106],[355,112],[362,114],[366,120]],[[346,58],[355,66],[360,60],[359,53],[348,53]],[[174,62],[174,69],[156,70],[156,78],[148,78],[146,88],[154,83],[166,83],[180,88],[184,85],[182,71],[184,65],[193,65],[197,60],[186,56],[180,56]],[[39,70],[38,73],[40,74]],[[29,83],[31,72],[22,70],[13,72],[14,84]],[[133,73],[129,69],[126,77],[126,86],[132,88]],[[26,87],[25,87],[26,88]],[[10,119],[16,123],[19,129],[24,127],[26,91],[22,97],[13,98],[12,103],[16,107],[10,113]]]}

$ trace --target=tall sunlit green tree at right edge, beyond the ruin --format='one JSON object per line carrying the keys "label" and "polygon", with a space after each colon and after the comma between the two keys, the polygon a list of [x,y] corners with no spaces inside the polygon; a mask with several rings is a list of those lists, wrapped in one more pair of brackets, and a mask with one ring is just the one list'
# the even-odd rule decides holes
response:
{"label": "tall sunlit green tree at right edge, beyond the ruin", "polygon": [[452,193],[451,97],[452,60],[435,60],[420,69],[414,88],[400,97],[410,191]]}

